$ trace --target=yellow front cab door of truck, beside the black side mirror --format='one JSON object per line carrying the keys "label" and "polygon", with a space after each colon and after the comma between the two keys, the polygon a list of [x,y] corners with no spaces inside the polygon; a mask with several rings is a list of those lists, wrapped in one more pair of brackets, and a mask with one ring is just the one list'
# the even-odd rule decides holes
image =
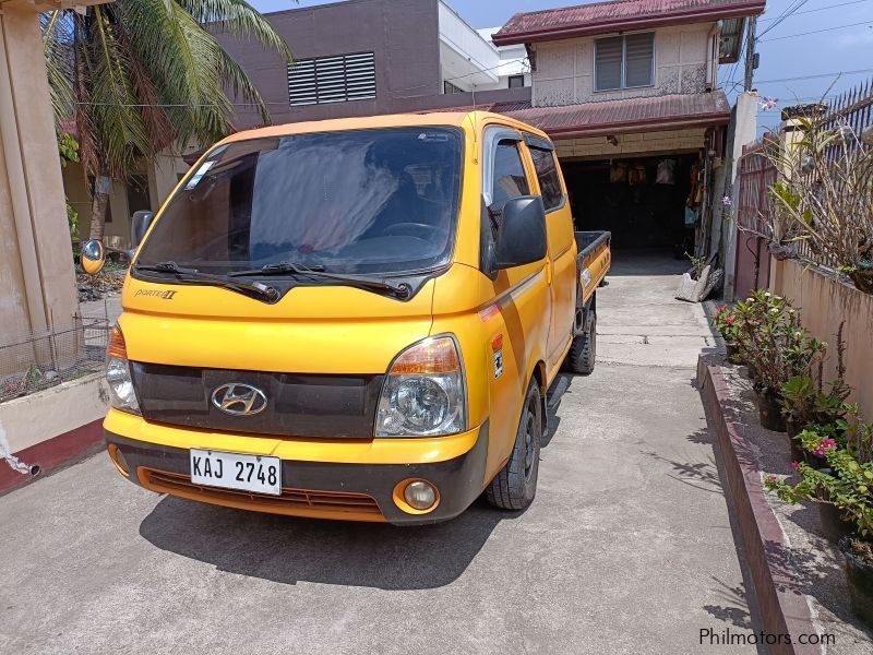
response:
{"label": "yellow front cab door of truck, beside the black side mirror", "polygon": [[[489,126],[482,139],[482,249],[493,246],[503,206],[513,198],[536,195],[536,186],[521,132]],[[546,260],[482,271],[481,296],[489,298],[479,315],[485,326],[490,421],[487,471],[494,473],[509,457],[530,362],[546,358],[550,294]]]}

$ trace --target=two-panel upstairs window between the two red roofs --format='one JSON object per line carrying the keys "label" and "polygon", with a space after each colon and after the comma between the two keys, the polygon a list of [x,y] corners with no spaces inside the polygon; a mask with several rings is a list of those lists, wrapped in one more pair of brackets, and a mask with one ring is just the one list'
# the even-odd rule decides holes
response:
{"label": "two-panel upstairs window between the two red roofs", "polygon": [[595,91],[651,86],[655,83],[655,33],[595,40]]}

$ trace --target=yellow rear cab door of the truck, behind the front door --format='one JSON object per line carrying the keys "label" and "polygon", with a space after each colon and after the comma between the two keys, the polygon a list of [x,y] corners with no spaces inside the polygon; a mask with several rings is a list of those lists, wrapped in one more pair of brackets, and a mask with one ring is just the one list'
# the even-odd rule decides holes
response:
{"label": "yellow rear cab door of the truck, behind the front door", "polygon": [[[551,141],[525,134],[537,191],[546,209],[549,258],[547,277],[551,296],[548,371],[553,374],[573,337],[576,312],[576,239],[566,189]],[[551,381],[551,380],[550,380]]]}

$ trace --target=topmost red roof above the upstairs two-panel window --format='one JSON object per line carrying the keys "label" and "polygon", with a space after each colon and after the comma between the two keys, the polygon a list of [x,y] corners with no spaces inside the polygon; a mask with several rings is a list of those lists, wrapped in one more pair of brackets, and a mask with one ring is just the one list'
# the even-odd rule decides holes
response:
{"label": "topmost red roof above the upstairs two-panel window", "polygon": [[492,35],[497,46],[555,40],[757,15],[765,0],[613,0],[517,13]]}

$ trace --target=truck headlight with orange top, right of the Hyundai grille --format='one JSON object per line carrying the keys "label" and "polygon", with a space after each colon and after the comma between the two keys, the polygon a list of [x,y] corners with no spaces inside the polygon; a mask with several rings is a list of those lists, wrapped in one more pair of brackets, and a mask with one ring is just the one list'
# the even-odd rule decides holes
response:
{"label": "truck headlight with orange top, right of the Hyundai grille", "polygon": [[467,428],[461,355],[451,336],[429,337],[400,353],[385,376],[376,437],[440,437]]}

